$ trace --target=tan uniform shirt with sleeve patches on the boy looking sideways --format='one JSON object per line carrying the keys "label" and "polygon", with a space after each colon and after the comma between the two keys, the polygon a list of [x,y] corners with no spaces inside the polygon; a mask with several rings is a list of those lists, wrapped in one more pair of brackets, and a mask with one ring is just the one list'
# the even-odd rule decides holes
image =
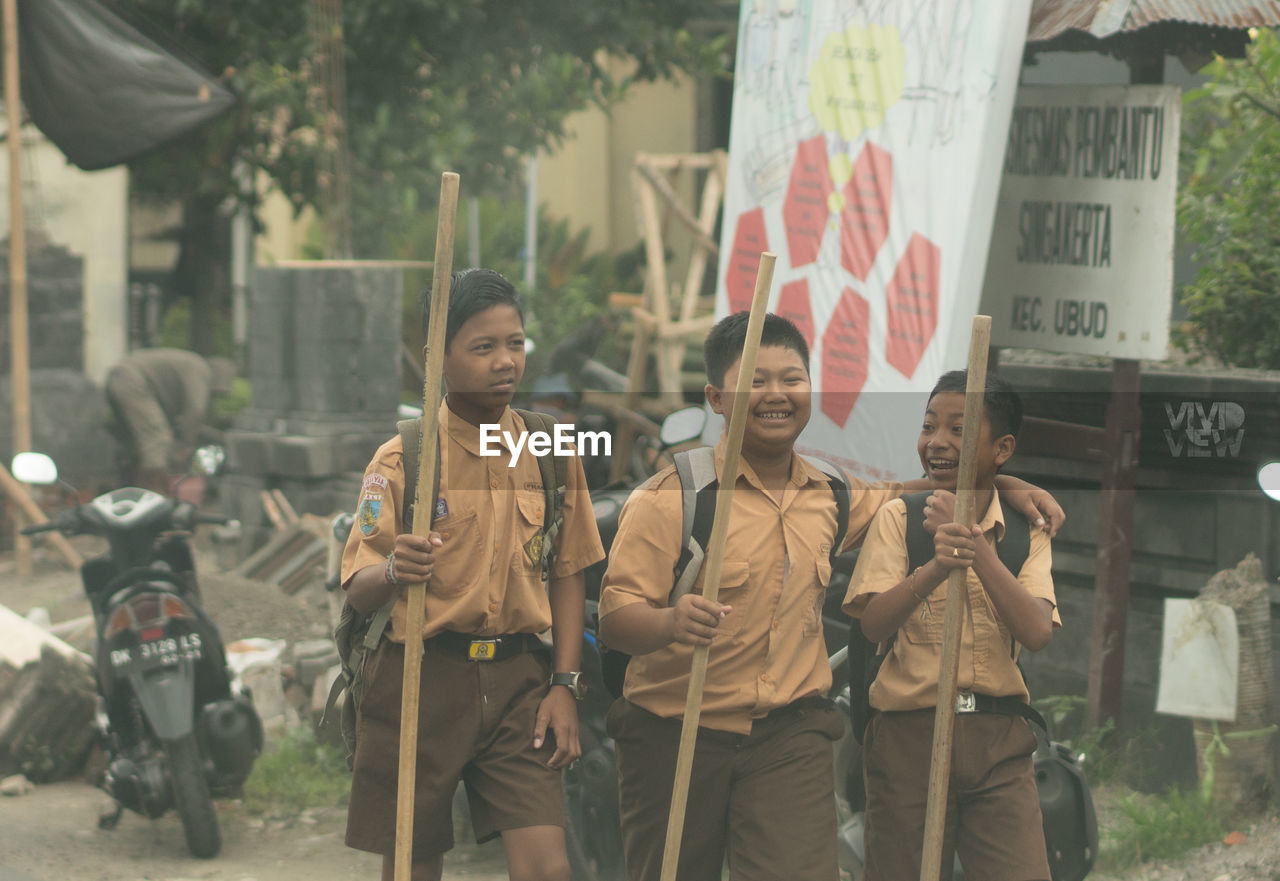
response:
{"label": "tan uniform shirt with sleeve patches on the boy looking sideways", "polygon": [[[444,544],[426,588],[422,638],[443,630],[493,636],[541,633],[552,625],[541,580],[540,534],[545,501],[538,458],[527,444],[508,467],[512,451],[502,440],[498,456],[480,455],[480,429],[440,403],[440,488],[431,529]],[[509,407],[499,432],[513,437],[525,421]],[[500,437],[500,434],[499,434]],[[356,522],[342,554],[343,585],[365,566],[381,566],[396,547],[404,496],[403,447],[397,434],[365,470]],[[581,461],[570,460],[564,521],[552,578],[579,572],[604,558]],[[404,642],[402,594],[392,610],[390,638]]]}

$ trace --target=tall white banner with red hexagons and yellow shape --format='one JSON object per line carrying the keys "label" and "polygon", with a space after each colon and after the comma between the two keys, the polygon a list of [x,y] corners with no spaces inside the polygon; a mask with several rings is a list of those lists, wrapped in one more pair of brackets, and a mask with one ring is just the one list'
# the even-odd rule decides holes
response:
{"label": "tall white banner with red hexagons and yellow shape", "polygon": [[[966,362],[1030,0],[742,0],[717,314],[812,348],[800,448],[920,471],[925,393]],[[719,426],[716,426],[716,432]]]}

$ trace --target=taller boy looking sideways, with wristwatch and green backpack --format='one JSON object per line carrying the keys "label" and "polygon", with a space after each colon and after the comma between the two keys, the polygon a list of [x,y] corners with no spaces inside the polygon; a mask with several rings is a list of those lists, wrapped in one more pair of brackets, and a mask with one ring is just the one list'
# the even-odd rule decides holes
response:
{"label": "taller boy looking sideways, with wristwatch and green backpack", "polygon": [[[424,324],[426,321],[424,309]],[[439,878],[453,846],[451,807],[461,780],[477,841],[500,835],[512,878],[568,880],[561,770],[580,754],[577,707],[585,586],[602,560],[581,464],[570,462],[564,520],[549,588],[541,580],[541,474],[526,448],[484,455],[481,425],[525,430],[507,405],[525,366],[515,289],[489,270],[456,273],[439,411],[440,483],[430,538],[406,533],[399,437],[365,471],[342,560],[348,602],[385,604],[402,584],[428,583],[422,639],[415,881]],[[492,433],[493,437],[497,433]],[[498,437],[503,437],[498,434]],[[492,443],[488,444],[493,449]],[[508,467],[509,466],[509,467]],[[369,658],[347,821],[347,844],[383,854],[394,873],[401,684],[407,601]],[[552,630],[553,657],[538,634]]]}

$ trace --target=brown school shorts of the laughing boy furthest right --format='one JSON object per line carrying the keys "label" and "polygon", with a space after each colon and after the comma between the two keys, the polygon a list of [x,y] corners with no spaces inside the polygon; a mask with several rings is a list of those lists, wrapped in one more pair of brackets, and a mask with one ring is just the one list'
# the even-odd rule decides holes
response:
{"label": "brown school shorts of the laughing boy furthest right", "polygon": [[[933,715],[874,713],[867,726],[867,881],[920,877]],[[951,877],[959,853],[966,878],[1048,881],[1030,726],[1016,716],[959,713],[952,750],[941,877]]]}

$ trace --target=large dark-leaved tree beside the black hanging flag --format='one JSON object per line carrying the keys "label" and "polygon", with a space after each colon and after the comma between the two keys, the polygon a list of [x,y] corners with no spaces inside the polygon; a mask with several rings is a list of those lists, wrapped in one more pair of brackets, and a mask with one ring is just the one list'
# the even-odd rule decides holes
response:
{"label": "large dark-leaved tree beside the black hanging flag", "polygon": [[[192,346],[229,293],[237,160],[297,210],[319,193],[323,131],[307,0],[122,0],[174,35],[241,96],[237,110],[131,166],[140,195],[183,207],[175,288],[192,298]],[[356,256],[438,198],[440,173],[467,195],[511,193],[522,158],[563,136],[570,114],[608,106],[632,82],[708,70],[721,41],[687,23],[714,0],[346,0],[347,131]],[[616,76],[602,58],[634,61]]]}

